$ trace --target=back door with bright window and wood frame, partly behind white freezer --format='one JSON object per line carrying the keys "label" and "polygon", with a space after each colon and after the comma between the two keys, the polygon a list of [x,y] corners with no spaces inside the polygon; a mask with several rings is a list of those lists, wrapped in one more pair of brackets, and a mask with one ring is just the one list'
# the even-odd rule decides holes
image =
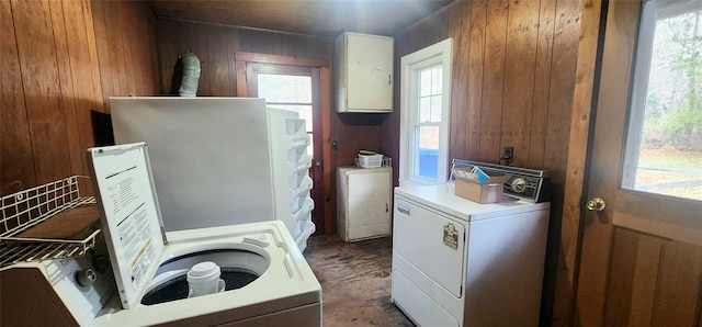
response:
{"label": "back door with bright window and wood frame, partly behind white freezer", "polygon": [[[239,56],[239,55],[238,55]],[[256,56],[239,56],[251,59]],[[309,65],[305,60],[276,56],[264,56],[261,61],[246,60],[246,86],[239,86],[241,97],[264,98],[268,106],[296,111],[306,122],[310,144],[307,155],[312,157],[309,176],[314,187],[310,196],[315,202],[313,222],[317,226],[315,234],[324,234],[324,147],[322,147],[322,88],[321,67]],[[280,63],[276,64],[275,61]],[[237,69],[237,74],[241,74]],[[241,78],[238,78],[241,80]]]}

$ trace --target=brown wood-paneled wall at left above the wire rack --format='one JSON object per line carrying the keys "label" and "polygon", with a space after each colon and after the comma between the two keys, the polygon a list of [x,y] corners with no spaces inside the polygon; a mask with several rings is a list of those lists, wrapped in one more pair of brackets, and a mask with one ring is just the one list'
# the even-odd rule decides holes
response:
{"label": "brown wood-paneled wall at left above the wire rack", "polygon": [[90,111],[156,92],[152,20],[141,2],[0,1],[0,194],[88,173]]}

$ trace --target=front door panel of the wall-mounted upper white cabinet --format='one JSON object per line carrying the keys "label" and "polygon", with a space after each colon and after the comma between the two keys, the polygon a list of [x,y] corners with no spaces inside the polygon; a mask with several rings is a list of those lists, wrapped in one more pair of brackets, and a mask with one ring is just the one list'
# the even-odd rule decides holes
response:
{"label": "front door panel of the wall-mounted upper white cabinet", "polygon": [[347,110],[393,111],[393,38],[349,34]]}

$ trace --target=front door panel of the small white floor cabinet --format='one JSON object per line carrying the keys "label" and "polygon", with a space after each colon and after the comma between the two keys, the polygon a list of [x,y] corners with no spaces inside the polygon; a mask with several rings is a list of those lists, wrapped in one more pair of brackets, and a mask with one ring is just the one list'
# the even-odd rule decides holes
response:
{"label": "front door panel of the small white floor cabinet", "polygon": [[390,233],[390,172],[348,174],[349,239]]}

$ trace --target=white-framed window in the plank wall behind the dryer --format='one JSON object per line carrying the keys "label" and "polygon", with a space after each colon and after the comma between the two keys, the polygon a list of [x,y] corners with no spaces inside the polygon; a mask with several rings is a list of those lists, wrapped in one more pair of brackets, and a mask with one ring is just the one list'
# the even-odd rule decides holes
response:
{"label": "white-framed window in the plank wall behind the dryer", "polygon": [[451,38],[401,58],[400,184],[448,177]]}

